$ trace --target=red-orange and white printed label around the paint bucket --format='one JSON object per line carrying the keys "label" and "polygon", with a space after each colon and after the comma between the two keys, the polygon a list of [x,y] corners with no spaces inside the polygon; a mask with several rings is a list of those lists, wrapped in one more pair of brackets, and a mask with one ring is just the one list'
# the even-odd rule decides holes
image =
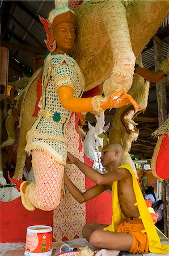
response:
{"label": "red-orange and white printed label around the paint bucket", "polygon": [[52,231],[48,233],[27,233],[26,251],[46,253],[52,249]]}

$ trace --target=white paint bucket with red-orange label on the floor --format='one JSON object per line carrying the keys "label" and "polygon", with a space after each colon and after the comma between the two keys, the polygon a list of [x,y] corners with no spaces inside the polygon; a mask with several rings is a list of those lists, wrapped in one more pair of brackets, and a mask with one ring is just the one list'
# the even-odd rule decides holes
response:
{"label": "white paint bucket with red-orange label on the floor", "polygon": [[51,226],[28,226],[25,256],[52,256]]}

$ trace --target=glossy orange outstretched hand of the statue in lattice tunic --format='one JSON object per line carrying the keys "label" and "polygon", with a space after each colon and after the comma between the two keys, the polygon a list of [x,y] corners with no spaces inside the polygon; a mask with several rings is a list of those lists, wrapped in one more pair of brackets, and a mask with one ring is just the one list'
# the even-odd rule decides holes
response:
{"label": "glossy orange outstretched hand of the statue in lattice tunic", "polygon": [[[104,103],[103,103],[104,102]],[[114,93],[108,98],[107,101],[101,101],[100,106],[103,106],[103,109],[112,109],[112,108],[121,108],[122,106],[132,104],[134,109],[138,110],[139,106],[137,102],[126,93],[126,89],[122,89],[117,93]]]}

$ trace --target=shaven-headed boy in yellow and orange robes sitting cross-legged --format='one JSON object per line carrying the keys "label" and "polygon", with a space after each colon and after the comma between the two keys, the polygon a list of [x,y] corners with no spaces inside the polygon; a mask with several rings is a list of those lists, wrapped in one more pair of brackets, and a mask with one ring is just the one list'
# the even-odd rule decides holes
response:
{"label": "shaven-headed boy in yellow and orange robes sitting cross-legged", "polygon": [[71,154],[67,154],[67,163],[75,164],[84,175],[96,185],[82,193],[65,174],[65,185],[79,202],[83,203],[100,195],[106,189],[112,189],[112,224],[90,223],[83,227],[83,237],[92,246],[102,249],[99,255],[118,255],[120,250],[133,254],[167,253],[168,246],[162,245],[143,199],[138,181],[128,164],[121,166],[123,148],[118,143],[103,147],[101,161],[108,172],[100,174],[88,167]]}

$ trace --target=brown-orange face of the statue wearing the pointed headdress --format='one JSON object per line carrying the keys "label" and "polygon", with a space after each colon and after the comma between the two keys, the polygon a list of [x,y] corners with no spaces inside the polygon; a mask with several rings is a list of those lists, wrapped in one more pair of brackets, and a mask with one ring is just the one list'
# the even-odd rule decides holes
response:
{"label": "brown-orange face of the statue wearing the pointed headdress", "polygon": [[60,22],[53,28],[53,39],[56,40],[56,51],[67,53],[73,47],[75,26],[72,22]]}

